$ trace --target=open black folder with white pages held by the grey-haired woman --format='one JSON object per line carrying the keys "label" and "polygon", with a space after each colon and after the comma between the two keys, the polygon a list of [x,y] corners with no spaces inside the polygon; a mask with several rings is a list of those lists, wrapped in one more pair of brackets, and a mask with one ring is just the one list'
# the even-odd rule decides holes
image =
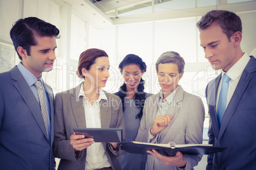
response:
{"label": "open black folder with white pages held by the grey-haired woman", "polygon": [[215,152],[222,152],[226,147],[215,147],[210,144],[183,144],[176,145],[174,142],[168,144],[143,143],[138,141],[122,142],[120,149],[133,154],[148,154],[147,150],[157,150],[159,154],[173,156],[180,151],[182,154],[209,155]]}

